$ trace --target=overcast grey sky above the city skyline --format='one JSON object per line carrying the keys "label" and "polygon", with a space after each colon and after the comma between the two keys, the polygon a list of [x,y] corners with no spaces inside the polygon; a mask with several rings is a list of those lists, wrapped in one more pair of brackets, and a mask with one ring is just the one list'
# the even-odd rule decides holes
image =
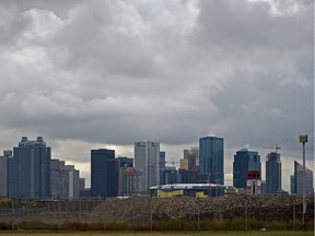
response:
{"label": "overcast grey sky above the city skyline", "polygon": [[178,161],[224,138],[226,179],[242,148],[281,146],[283,188],[314,169],[313,0],[2,0],[0,149],[43,135],[90,186],[90,150],[133,157],[160,141]]}

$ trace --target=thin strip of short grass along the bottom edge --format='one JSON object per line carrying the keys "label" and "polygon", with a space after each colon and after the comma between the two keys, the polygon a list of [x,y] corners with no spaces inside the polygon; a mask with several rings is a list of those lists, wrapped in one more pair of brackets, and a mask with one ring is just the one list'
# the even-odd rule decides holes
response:
{"label": "thin strip of short grass along the bottom edge", "polygon": [[148,235],[148,236],[313,236],[314,232],[289,232],[289,231],[272,231],[272,232],[1,232],[1,236],[135,236],[135,235]]}

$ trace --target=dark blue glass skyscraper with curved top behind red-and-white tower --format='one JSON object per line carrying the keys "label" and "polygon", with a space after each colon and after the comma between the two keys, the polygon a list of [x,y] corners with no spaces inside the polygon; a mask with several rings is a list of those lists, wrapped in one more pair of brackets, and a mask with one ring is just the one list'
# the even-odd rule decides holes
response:
{"label": "dark blue glass skyscraper with curved top behind red-and-white tower", "polygon": [[233,162],[233,186],[246,188],[248,172],[257,170],[261,174],[260,155],[256,151],[242,149],[234,155]]}

